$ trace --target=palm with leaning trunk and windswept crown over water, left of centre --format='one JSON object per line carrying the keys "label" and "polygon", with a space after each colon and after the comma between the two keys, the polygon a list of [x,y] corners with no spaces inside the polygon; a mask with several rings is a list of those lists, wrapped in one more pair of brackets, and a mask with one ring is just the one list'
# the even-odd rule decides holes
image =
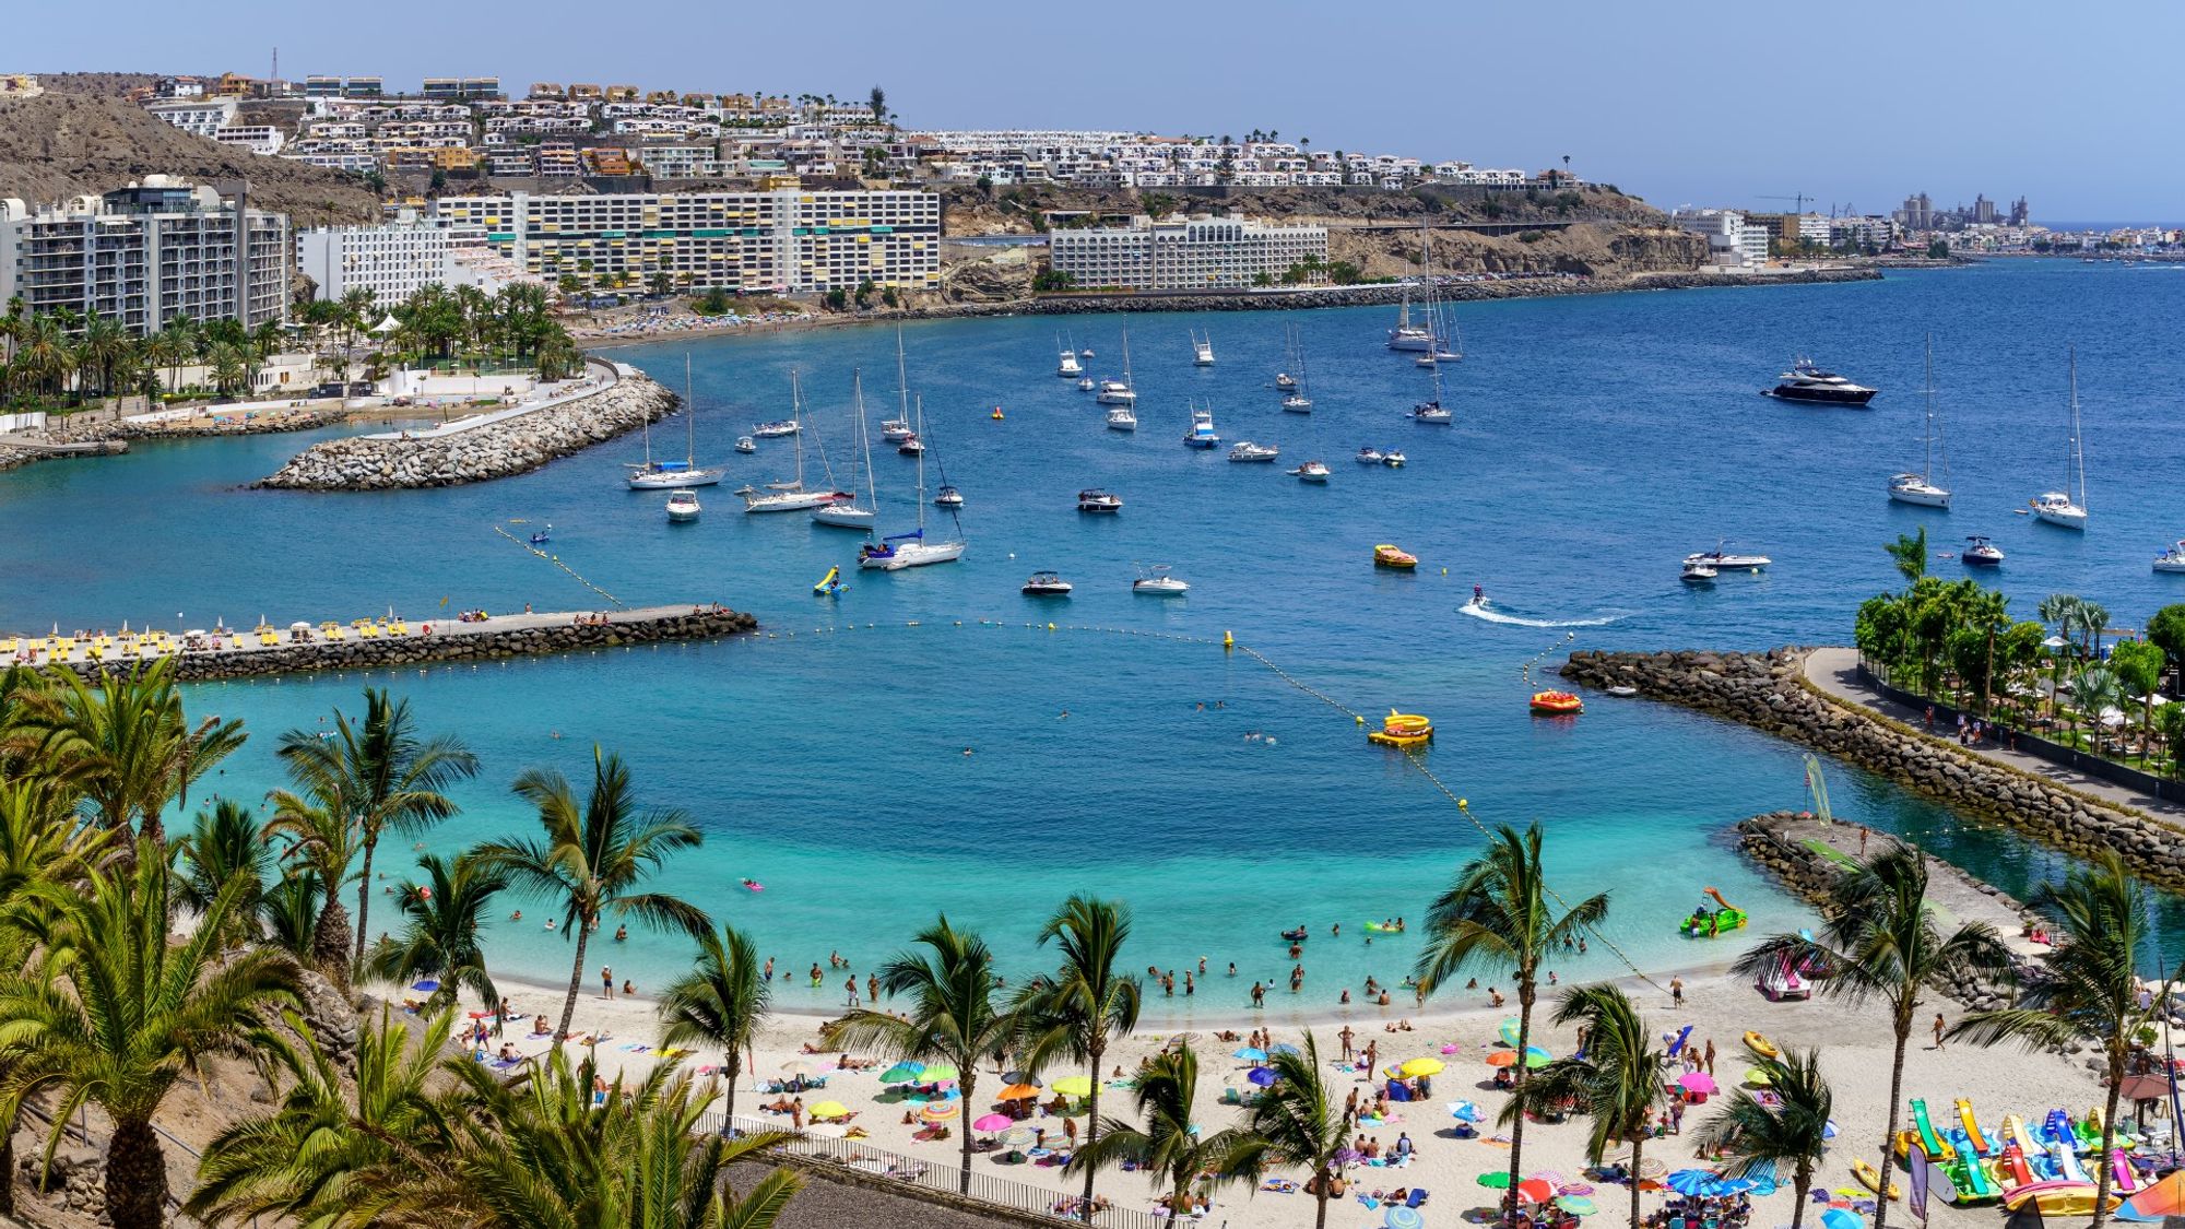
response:
{"label": "palm with leaning trunk and windswept crown over water, left of centre", "polygon": [[[653,925],[704,936],[712,927],[706,910],[666,892],[640,892],[671,853],[697,848],[704,840],[677,809],[638,809],[623,757],[592,748],[592,794],[577,805],[568,779],[546,768],[516,779],[516,794],[538,807],[542,840],[496,840],[479,846],[489,866],[509,875],[518,892],[555,897],[562,903],[562,934],[577,943],[562,999],[555,1041],[568,1037],[583,986],[583,951],[599,918],[636,916]],[[966,1089],[968,1093],[968,1089]]]}

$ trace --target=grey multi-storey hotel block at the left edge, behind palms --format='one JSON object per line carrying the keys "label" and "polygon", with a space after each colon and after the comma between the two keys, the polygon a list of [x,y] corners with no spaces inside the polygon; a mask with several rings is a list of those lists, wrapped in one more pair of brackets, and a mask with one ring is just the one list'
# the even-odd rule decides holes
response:
{"label": "grey multi-storey hotel block at the left edge, behind palms", "polygon": [[31,210],[0,201],[0,302],[98,313],[144,337],[175,315],[288,317],[288,219],[166,175]]}

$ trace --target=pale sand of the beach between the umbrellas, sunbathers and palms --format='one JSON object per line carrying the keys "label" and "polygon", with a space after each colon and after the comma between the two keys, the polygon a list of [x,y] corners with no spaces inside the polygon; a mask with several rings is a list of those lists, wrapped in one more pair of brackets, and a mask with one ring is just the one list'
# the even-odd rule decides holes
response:
{"label": "pale sand of the beach between the umbrellas, sunbathers and palms", "polygon": [[[599,949],[594,949],[599,951]],[[1733,947],[1722,947],[1722,960],[1737,953]],[[859,984],[863,984],[870,969],[854,969]],[[802,971],[793,971],[798,980],[804,980]],[[837,969],[828,975],[830,982],[848,978],[850,973]],[[1879,1006],[1846,1006],[1833,999],[1809,999],[1809,1002],[1768,1002],[1761,997],[1750,982],[1744,978],[1733,978],[1720,964],[1713,969],[1700,969],[1682,973],[1685,1002],[1682,1006],[1672,1002],[1665,991],[1669,975],[1656,973],[1652,980],[1628,978],[1619,982],[1626,993],[1645,1013],[1647,1023],[1661,1034],[1674,1034],[1687,1023],[1691,1030],[1691,1041],[1704,1052],[1711,1041],[1715,1047],[1715,1076],[1720,1078],[1724,1093],[1715,1096],[1709,1104],[1696,1104],[1687,1109],[1682,1126],[1691,1131],[1706,1115],[1715,1113],[1726,1100],[1726,1093],[1741,1078],[1744,1069],[1750,1065],[1746,1061],[1739,1037],[1746,1030],[1757,1030],[1770,1037],[1774,1043],[1785,1047],[1822,1047],[1824,1069],[1835,1089],[1835,1120],[1842,1126],[1842,1144],[1831,1150],[1827,1166],[1816,1174],[1816,1187],[1855,1187],[1851,1177],[1851,1161],[1855,1157],[1875,1159],[1875,1146],[1883,1135],[1886,1120],[1886,1096],[1888,1096],[1888,1074],[1890,1074],[1890,1037],[1888,1023]],[[566,984],[542,986],[516,980],[503,980],[503,991],[513,1006],[529,1019],[535,1013],[555,1017],[562,1006],[562,995]],[[1481,980],[1486,984],[1486,980]],[[1230,991],[1224,971],[1219,967],[1210,969],[1208,984],[1202,993],[1219,995]],[[1508,993],[1508,982],[1503,982]],[[1564,1054],[1573,1045],[1575,1037],[1569,1030],[1554,1030],[1547,1026],[1551,1015],[1551,999],[1560,991],[1543,986],[1543,1006],[1536,1017],[1534,1043],[1545,1045],[1554,1054]],[[1243,995],[1239,991],[1237,999]],[[1230,1015],[1219,1015],[1215,1019],[1202,1019],[1200,1028],[1191,1034],[1193,1047],[1200,1052],[1200,1100],[1197,1113],[1200,1124],[1206,1131],[1219,1131],[1241,1122],[1243,1109],[1230,1104],[1232,1093],[1250,1091],[1245,1074],[1250,1063],[1232,1058],[1241,1041],[1217,1041],[1213,1032],[1230,1028],[1239,1034],[1252,1028],[1272,1028],[1276,1043],[1302,1041],[1307,1028],[1315,1034],[1322,1054],[1333,1063],[1342,1052],[1342,1041],[1337,1034],[1344,1023],[1339,1019],[1318,1019],[1313,1023],[1269,1023],[1296,1019],[1280,1010],[1287,1006],[1287,991],[1276,991],[1269,995],[1272,1008],[1265,1013],[1237,1010]],[[891,1006],[887,1002],[883,1008]],[[1403,1010],[1392,1008],[1350,1008],[1350,1028],[1355,1032],[1355,1043],[1363,1050],[1368,1043],[1377,1045],[1377,1058],[1385,1067],[1390,1063],[1401,1063],[1418,1056],[1433,1056],[1446,1063],[1446,1072],[1433,1078],[1431,1093],[1412,1104],[1394,1107],[1387,1122],[1359,1126],[1361,1135],[1379,1139],[1383,1148],[1394,1148],[1398,1135],[1409,1135],[1416,1157],[1398,1168],[1383,1166],[1353,1166],[1353,1187],[1350,1196],[1342,1205],[1331,1205],[1331,1225],[1381,1225],[1381,1214],[1363,1207],[1357,1194],[1372,1194],[1374,1190],[1392,1187],[1425,1187],[1429,1192],[1429,1203],[1422,1212],[1431,1216],[1429,1222],[1453,1222],[1457,1214],[1468,1209],[1488,1207],[1492,1203],[1492,1192],[1484,1190],[1477,1179],[1479,1174],[1495,1172],[1508,1166],[1508,1146],[1497,1144],[1495,1137],[1503,1128],[1495,1126],[1495,1115],[1508,1102],[1505,1093],[1495,1091],[1492,1069],[1486,1065],[1486,1056],[1501,1047],[1497,1030],[1503,1019],[1514,1017],[1514,1004],[1505,1008],[1492,1008],[1484,1002],[1481,993],[1457,993],[1453,997],[1429,1002],[1425,1010]],[[1923,1006],[1921,1030],[1914,1037],[1912,1052],[1905,1063],[1905,1098],[1925,1098],[1936,1122],[1951,1120],[1951,1104],[1958,1098],[1973,1102],[1980,1122],[1995,1131],[1995,1124],[2004,1113],[2021,1113],[2028,1120],[2039,1120],[2050,1109],[2067,1109],[2074,1117],[2087,1113],[2087,1107],[2100,1102],[2100,1082],[2087,1072],[2082,1058],[2067,1058],[2060,1054],[2023,1054],[2019,1050],[1977,1050],[1971,1045],[1949,1045],[1942,1050],[1934,1047],[1934,1039],[1927,1032],[1932,1013],[1940,1010],[1947,1019],[1956,1021],[1960,1006],[1949,999],[1936,997],[1934,1004]],[[636,997],[616,995],[612,1002],[601,997],[597,971],[586,982],[583,993],[577,999],[577,1032],[605,1028],[612,1032],[610,1041],[597,1045],[601,1067],[610,1074],[627,1072],[631,1076],[649,1069],[658,1056],[653,1045],[658,1041],[658,1019],[656,999],[647,995],[645,986],[638,986]],[[1409,1032],[1390,1032],[1387,1026],[1396,1021],[1409,1021]],[[802,1093],[806,1107],[815,1107],[824,1100],[839,1100],[857,1117],[850,1126],[865,1133],[865,1142],[874,1148],[889,1152],[907,1152],[926,1159],[937,1168],[957,1166],[957,1137],[916,1142],[916,1124],[905,1122],[902,1104],[894,1104],[894,1098],[881,1100],[885,1089],[878,1085],[878,1072],[887,1065],[889,1056],[881,1054],[854,1054],[854,1058],[881,1058],[878,1065],[861,1072],[837,1069],[839,1054],[808,1054],[804,1047],[817,1045],[819,1019],[813,1015],[776,1015],[767,1021],[758,1052],[749,1058],[747,1069],[739,1082],[736,1113],[739,1117],[760,1117],[778,1120],[784,1128],[789,1126],[787,1115],[767,1115],[760,1111],[760,1102],[776,1100],[773,1093],[760,1096],[754,1089],[765,1087],[769,1080],[782,1078],[789,1065],[808,1065],[811,1078],[824,1078],[824,1089],[811,1089]],[[544,1054],[546,1039],[522,1039],[513,1037],[518,1030],[511,1028],[513,1045],[520,1054]],[[1106,1076],[1114,1076],[1119,1067],[1125,1076],[1138,1065],[1147,1054],[1158,1052],[1162,1045],[1171,1043],[1178,1034],[1162,1030],[1160,1026],[1145,1028],[1143,1032],[1123,1039],[1114,1045],[1108,1056]],[[642,1047],[642,1050],[640,1050]],[[690,1054],[684,1063],[708,1069],[721,1063],[721,1054]],[[1082,1074],[1071,1067],[1053,1067],[1044,1072],[1047,1080],[1060,1076]],[[1328,1069],[1331,1087],[1337,1096],[1346,1096],[1350,1087],[1368,1093],[1366,1074],[1350,1072],[1348,1065]],[[981,1072],[975,1104],[966,1109],[966,1115],[950,1124],[953,1131],[961,1131],[964,1122],[970,1117],[985,1115],[994,1109],[992,1096],[1001,1091],[1001,1078],[994,1072]],[[1481,1124],[1479,1139],[1457,1139],[1455,1122],[1451,1117],[1451,1104],[1471,1100],[1488,1117]],[[1127,1089],[1110,1085],[1103,1091],[1101,1102],[1103,1115],[1132,1117],[1132,1096]],[[1027,1120],[1027,1126],[1044,1128],[1049,1133],[1062,1131],[1060,1117],[1044,1117],[1036,1113]],[[1079,1131],[1082,1131],[1079,1120]],[[822,1128],[826,1133],[841,1133],[841,1128]],[[1593,1185],[1593,1201],[1599,1205],[1599,1214],[1593,1220],[1621,1222],[1623,1207],[1628,1201],[1628,1190],[1606,1183],[1588,1183],[1582,1177],[1586,1170],[1584,1159],[1586,1124],[1582,1120],[1564,1124],[1530,1124],[1525,1133],[1525,1170],[1560,1174],[1569,1183]],[[999,1157],[1003,1152],[975,1152],[972,1166],[979,1172],[994,1172],[996,1177],[1007,1177],[1020,1183],[1034,1183],[1040,1187],[1051,1187],[1058,1194],[1075,1190],[1075,1179],[1064,1177],[1060,1168],[1038,1166],[1038,1163],[1003,1163]],[[1669,1170],[1696,1166],[1691,1148],[1682,1146],[1676,1135],[1654,1139],[1645,1148],[1645,1157],[1661,1159]],[[1300,1174],[1287,1174],[1298,1179]],[[1101,1174],[1099,1190],[1114,1201],[1117,1207],[1151,1209],[1154,1190],[1143,1174],[1108,1172]],[[1864,1192],[1859,1192],[1864,1198]],[[1645,1194],[1645,1207],[1658,1207],[1667,1194]],[[1779,1194],[1755,1201],[1752,1225],[1759,1229],[1790,1225],[1792,1216],[1792,1194],[1785,1185]],[[1892,1218],[1903,1216],[1892,1214]],[[1932,1220],[1938,1225],[1975,1225],[1991,1222],[1995,1218],[1993,1209],[1960,1209],[1936,1201],[1929,1212]],[[1302,1227],[1313,1220],[1313,1201],[1307,1194],[1278,1194],[1278,1192],[1245,1192],[1241,1187],[1224,1187],[1215,1194],[1215,1209],[1208,1222],[1235,1222],[1235,1225],[1267,1225],[1267,1227]],[[1816,1222],[1814,1216],[1807,1222]]]}

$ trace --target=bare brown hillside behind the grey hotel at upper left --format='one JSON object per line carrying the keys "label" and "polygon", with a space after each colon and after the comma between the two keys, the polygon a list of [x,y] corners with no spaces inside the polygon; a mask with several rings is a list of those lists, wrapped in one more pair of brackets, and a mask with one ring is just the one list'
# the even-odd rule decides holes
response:
{"label": "bare brown hillside behind the grey hotel at upper left", "polygon": [[190,136],[142,107],[96,94],[46,94],[0,105],[0,197],[52,203],[122,188],[144,175],[249,179],[258,208],[295,225],[378,219],[378,197],[354,175]]}

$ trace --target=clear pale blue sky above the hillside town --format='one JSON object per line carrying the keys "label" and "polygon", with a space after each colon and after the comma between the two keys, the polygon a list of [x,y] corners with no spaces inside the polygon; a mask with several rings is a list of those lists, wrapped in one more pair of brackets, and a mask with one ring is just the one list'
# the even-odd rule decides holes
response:
{"label": "clear pale blue sky above the hillside town", "polygon": [[[96,11],[98,20],[83,20]],[[4,70],[378,72],[780,90],[883,85],[909,125],[1309,136],[1571,168],[1658,206],[1862,212],[1927,190],[2036,219],[2178,216],[2176,9],[2119,0],[306,4],[17,0]],[[20,61],[20,63],[17,63]]]}

